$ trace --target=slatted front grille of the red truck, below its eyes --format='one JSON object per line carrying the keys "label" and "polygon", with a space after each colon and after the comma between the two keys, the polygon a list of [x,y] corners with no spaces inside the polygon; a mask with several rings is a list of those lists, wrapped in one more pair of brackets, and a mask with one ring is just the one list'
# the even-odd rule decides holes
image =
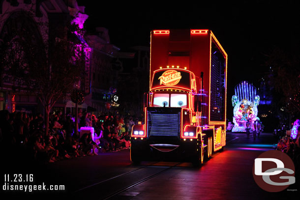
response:
{"label": "slatted front grille of the red truck, below its eyes", "polygon": [[148,136],[180,136],[180,112],[148,112]]}

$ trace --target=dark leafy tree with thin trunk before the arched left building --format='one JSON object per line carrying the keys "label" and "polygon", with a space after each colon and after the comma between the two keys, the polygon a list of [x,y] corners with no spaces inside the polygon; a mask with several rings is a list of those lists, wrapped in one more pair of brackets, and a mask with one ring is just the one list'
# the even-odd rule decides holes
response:
{"label": "dark leafy tree with thin trunk before the arched left building", "polygon": [[13,79],[13,89],[36,94],[45,108],[46,135],[54,104],[85,77],[86,46],[76,35],[82,36],[82,30],[71,24],[71,20],[55,28],[39,25],[41,29],[51,30],[49,45],[41,39],[25,40],[24,35],[30,35],[30,30],[24,30],[14,32],[11,37],[14,39],[4,42],[0,48],[0,67],[6,78]]}

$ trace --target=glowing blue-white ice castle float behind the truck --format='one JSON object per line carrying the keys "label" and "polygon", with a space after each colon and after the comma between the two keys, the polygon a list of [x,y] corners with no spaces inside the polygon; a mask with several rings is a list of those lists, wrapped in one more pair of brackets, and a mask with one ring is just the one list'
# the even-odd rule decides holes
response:
{"label": "glowing blue-white ice castle float behind the truck", "polygon": [[249,121],[252,126],[254,121],[258,119],[259,96],[256,95],[256,91],[256,87],[246,81],[235,86],[235,95],[232,96],[234,107],[232,132],[245,132],[246,122]]}

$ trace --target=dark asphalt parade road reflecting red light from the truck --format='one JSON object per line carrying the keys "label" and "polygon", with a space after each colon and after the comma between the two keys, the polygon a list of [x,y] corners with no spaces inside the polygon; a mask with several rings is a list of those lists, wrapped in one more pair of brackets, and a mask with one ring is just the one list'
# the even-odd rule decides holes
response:
{"label": "dark asphalt parade road reflecting red light from the truck", "polygon": [[263,133],[254,140],[252,137],[247,139],[246,134],[227,132],[226,142],[224,151],[212,154],[201,168],[179,162],[142,162],[133,166],[128,149],[47,165],[4,162],[1,164],[4,166],[2,183],[5,174],[21,173],[23,179],[26,174],[32,174],[33,182],[24,181],[24,185],[44,184],[48,189],[50,185],[63,185],[64,190],[24,192],[23,189],[16,192],[3,191],[2,187],[0,197],[29,196],[39,200],[55,197],[72,200],[277,200],[299,197],[299,184],[290,185],[282,192],[269,193],[253,179],[254,159],[276,147],[273,134]]}

